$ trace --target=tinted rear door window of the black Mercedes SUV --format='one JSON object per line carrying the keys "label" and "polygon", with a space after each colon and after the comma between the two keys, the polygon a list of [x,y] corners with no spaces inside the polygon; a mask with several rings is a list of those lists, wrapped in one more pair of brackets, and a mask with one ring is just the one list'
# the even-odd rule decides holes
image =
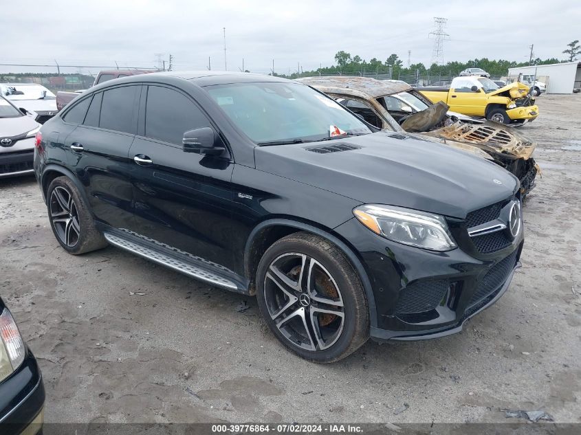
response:
{"label": "tinted rear door window of the black Mercedes SUV", "polygon": [[135,91],[138,89],[139,86],[124,86],[103,92],[99,122],[102,129],[135,134],[133,111],[135,111]]}

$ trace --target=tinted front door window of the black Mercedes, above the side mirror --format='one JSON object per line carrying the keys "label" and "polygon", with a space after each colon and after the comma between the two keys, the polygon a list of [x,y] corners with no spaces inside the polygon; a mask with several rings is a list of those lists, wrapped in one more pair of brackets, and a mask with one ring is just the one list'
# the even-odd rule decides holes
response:
{"label": "tinted front door window of the black Mercedes, above the side mirror", "polygon": [[184,133],[210,126],[206,115],[182,93],[150,86],[147,91],[145,135],[181,146]]}

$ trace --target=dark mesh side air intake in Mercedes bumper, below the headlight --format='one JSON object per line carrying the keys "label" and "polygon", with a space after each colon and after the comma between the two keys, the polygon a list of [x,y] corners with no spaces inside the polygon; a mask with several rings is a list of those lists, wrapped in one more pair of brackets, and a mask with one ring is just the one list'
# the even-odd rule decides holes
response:
{"label": "dark mesh side air intake in Mercedes bumper, below the headlight", "polygon": [[414,282],[399,293],[395,311],[412,314],[433,310],[446,297],[449,288],[448,280]]}

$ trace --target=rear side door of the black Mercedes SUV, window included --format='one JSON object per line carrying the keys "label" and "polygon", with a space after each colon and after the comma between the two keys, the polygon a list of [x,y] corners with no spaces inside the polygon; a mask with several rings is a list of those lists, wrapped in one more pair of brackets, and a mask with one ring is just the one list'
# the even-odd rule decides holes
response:
{"label": "rear side door of the black Mercedes SUV, window included", "polygon": [[134,225],[129,177],[134,164],[128,156],[137,131],[140,89],[125,85],[94,93],[83,122],[64,140],[69,165],[83,183],[94,216],[117,228]]}

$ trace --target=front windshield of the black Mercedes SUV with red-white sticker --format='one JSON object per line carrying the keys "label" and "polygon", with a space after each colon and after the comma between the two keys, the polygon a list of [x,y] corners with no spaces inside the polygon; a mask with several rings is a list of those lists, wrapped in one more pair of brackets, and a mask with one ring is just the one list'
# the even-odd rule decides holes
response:
{"label": "front windshield of the black Mercedes SUV with red-white sticker", "polygon": [[324,140],[337,134],[331,131],[372,132],[331,98],[298,83],[236,83],[209,86],[206,91],[257,144]]}

